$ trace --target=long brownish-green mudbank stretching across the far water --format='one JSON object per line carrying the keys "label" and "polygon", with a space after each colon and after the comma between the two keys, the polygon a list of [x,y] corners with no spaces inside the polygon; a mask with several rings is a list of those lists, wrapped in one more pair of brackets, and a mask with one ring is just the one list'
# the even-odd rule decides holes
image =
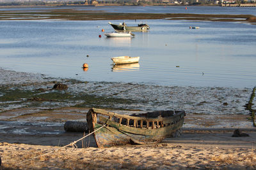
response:
{"label": "long brownish-green mudbank stretching across the far water", "polygon": [[[20,6],[21,7],[21,6]],[[37,6],[39,7],[39,6]],[[53,6],[49,6],[53,7]],[[107,15],[106,15],[107,14]],[[43,15],[43,16],[42,16]],[[76,9],[47,9],[47,10],[9,10],[0,11],[0,20],[207,20],[220,22],[250,22],[255,23],[253,15],[219,15],[195,13],[109,13],[106,11]]]}

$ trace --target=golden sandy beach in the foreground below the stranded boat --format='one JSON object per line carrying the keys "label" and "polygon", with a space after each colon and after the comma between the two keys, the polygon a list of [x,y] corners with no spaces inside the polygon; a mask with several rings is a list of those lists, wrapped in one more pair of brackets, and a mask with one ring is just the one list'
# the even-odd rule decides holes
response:
{"label": "golden sandy beach in the foreground below the stranded boat", "polygon": [[[180,138],[168,138],[157,145],[103,149],[49,146],[56,137],[49,138],[45,146],[3,142],[1,169],[255,169],[256,132],[244,132],[250,137],[232,138],[232,132],[223,131],[185,131]],[[75,138],[69,137],[65,136]]]}

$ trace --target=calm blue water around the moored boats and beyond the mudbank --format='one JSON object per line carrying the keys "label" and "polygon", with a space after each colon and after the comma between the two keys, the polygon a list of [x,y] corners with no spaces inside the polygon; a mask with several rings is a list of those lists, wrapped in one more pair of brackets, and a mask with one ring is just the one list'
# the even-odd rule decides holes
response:
{"label": "calm blue water around the moored boats and beyond the mudbank", "polygon": [[[154,6],[102,8],[109,11],[123,8],[127,12],[142,12],[146,8],[145,12],[157,12],[156,9],[161,8],[163,12],[173,9],[178,12],[184,7],[156,7],[155,10]],[[196,10],[195,7],[189,7],[189,10],[191,8]],[[212,13],[218,13],[218,10],[230,14],[255,13],[255,8],[200,9],[198,13],[205,13],[207,9]],[[126,22],[135,25],[140,21]],[[150,25],[150,31],[134,32],[135,38],[106,38],[101,30],[113,31],[106,20],[1,21],[0,67],[83,81],[196,87],[256,85],[256,25],[186,20],[144,22]],[[199,26],[200,29],[189,29],[189,26]],[[120,55],[140,56],[140,63],[113,67],[110,58]],[[87,71],[82,69],[84,62],[89,65]]]}

